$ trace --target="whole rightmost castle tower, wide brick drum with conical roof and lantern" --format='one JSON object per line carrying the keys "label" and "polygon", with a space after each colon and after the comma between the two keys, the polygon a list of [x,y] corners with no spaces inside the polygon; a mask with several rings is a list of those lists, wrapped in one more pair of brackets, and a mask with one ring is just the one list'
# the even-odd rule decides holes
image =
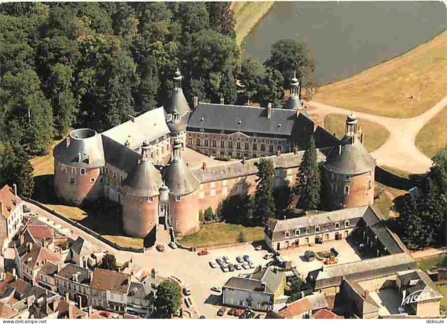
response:
{"label": "whole rightmost castle tower, wide brick drum with conical roof and lantern", "polygon": [[363,146],[357,118],[346,118],[345,136],[333,147],[324,164],[326,194],[333,209],[374,203],[375,160]]}

